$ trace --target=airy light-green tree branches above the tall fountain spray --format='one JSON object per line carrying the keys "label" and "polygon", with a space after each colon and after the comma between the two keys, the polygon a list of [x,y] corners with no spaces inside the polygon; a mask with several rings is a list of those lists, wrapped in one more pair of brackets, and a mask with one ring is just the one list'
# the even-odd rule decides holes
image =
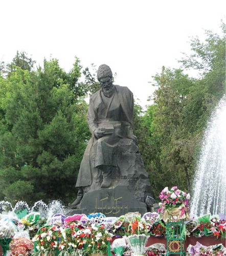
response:
{"label": "airy light-green tree branches above the tall fountain spray", "polygon": [[191,39],[192,54],[184,54],[180,60],[185,69],[198,70],[205,92],[219,101],[225,94],[225,32],[226,26],[221,23],[222,35],[206,30],[206,40],[201,42],[196,36]]}

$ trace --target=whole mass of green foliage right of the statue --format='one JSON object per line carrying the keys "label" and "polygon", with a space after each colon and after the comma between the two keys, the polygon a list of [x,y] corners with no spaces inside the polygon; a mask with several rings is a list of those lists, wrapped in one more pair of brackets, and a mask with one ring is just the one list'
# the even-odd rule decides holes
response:
{"label": "whole mass of green foliage right of the statue", "polygon": [[[189,77],[182,69],[165,67],[161,74],[154,76],[157,86],[154,105],[143,116],[149,138],[142,142],[141,151],[145,152],[148,140],[155,140],[149,145],[156,148],[155,155],[150,154],[149,159],[143,156],[150,177],[151,173],[157,177],[155,181],[150,179],[154,192],[160,193],[164,186],[174,185],[190,190],[203,131],[216,103],[225,93],[224,24],[222,28],[222,36],[206,31],[205,42],[198,37],[192,39],[193,54],[181,61],[182,68],[197,69],[199,78]],[[151,162],[153,166],[149,165]],[[159,180],[161,182],[156,184]]]}

